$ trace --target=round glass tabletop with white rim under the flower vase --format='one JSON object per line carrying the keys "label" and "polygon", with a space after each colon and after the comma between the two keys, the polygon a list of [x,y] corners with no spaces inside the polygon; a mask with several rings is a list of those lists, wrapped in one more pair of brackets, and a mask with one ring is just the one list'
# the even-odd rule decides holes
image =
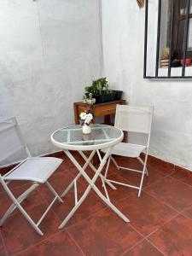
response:
{"label": "round glass tabletop with white rim under the flower vase", "polygon": [[[81,125],[72,125],[55,131],[51,141],[60,148],[76,149],[78,147],[104,148],[108,143],[119,143],[123,139],[123,132],[110,125],[90,125],[91,133],[84,135]],[[95,146],[95,147],[94,147]],[[89,150],[89,149],[87,149]]]}

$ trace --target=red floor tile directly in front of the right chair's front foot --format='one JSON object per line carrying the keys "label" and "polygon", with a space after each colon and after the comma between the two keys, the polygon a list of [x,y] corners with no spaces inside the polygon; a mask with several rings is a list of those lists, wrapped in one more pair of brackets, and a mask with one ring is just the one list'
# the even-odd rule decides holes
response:
{"label": "red floor tile directly in front of the right chair's front foot", "polygon": [[125,216],[130,218],[133,225],[143,236],[148,236],[166,221],[177,214],[172,208],[166,207],[154,197],[143,194],[138,198],[131,195],[128,199],[116,205]]}

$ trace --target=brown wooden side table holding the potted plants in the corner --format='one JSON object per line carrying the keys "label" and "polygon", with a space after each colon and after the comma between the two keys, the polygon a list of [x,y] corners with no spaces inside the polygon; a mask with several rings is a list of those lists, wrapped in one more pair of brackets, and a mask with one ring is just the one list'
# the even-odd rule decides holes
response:
{"label": "brown wooden side table holding the potted plants in the corner", "polygon": [[96,117],[104,116],[104,124],[112,125],[110,115],[115,114],[116,106],[117,105],[125,105],[125,100],[114,101],[114,102],[105,102],[105,103],[98,103],[94,105],[84,104],[83,102],[74,102],[74,119],[75,124],[79,125],[79,114],[84,111],[90,110],[91,113],[94,114],[93,123],[96,122]]}

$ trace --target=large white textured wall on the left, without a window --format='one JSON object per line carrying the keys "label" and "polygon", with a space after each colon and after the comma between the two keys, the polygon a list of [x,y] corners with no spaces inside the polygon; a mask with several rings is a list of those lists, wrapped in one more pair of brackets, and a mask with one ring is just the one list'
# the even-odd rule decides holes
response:
{"label": "large white textured wall on the left, without a window", "polygon": [[51,132],[101,76],[100,0],[0,2],[0,117],[18,117],[32,154],[58,150]]}

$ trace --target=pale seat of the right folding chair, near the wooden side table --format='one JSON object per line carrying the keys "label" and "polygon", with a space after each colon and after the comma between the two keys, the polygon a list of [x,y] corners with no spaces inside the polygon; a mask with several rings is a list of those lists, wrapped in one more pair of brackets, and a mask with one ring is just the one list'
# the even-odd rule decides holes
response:
{"label": "pale seat of the right folding chair, near the wooden side table", "polygon": [[[113,148],[111,154],[122,155],[126,157],[139,157],[146,146],[131,144],[131,143],[119,143]],[[102,152],[106,153],[107,149],[102,149]]]}

